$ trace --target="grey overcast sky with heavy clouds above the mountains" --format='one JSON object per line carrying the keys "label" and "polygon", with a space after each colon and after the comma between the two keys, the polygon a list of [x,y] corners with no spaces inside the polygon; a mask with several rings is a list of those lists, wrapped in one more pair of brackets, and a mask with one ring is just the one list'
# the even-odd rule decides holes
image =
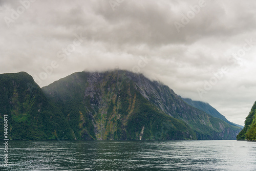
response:
{"label": "grey overcast sky with heavy clouds above the mountains", "polygon": [[83,70],[141,72],[244,125],[256,100],[254,1],[21,2],[0,0],[0,73],[44,87]]}

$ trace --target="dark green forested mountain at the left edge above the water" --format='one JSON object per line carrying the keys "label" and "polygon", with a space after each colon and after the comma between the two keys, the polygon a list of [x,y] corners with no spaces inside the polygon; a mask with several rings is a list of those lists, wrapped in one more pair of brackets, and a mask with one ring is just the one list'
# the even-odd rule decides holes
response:
{"label": "dark green forested mountain at the left edge above the water", "polygon": [[0,74],[0,120],[4,115],[8,115],[9,139],[74,139],[61,111],[25,72]]}

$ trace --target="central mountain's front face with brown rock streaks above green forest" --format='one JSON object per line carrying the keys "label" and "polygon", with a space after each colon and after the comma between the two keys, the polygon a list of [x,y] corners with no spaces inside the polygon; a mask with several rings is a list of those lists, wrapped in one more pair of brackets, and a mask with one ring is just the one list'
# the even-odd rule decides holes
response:
{"label": "central mountain's front face with brown rock streaks above green forest", "polygon": [[42,90],[60,106],[77,139],[196,139],[189,125],[157,109],[119,72],[74,73]]}

